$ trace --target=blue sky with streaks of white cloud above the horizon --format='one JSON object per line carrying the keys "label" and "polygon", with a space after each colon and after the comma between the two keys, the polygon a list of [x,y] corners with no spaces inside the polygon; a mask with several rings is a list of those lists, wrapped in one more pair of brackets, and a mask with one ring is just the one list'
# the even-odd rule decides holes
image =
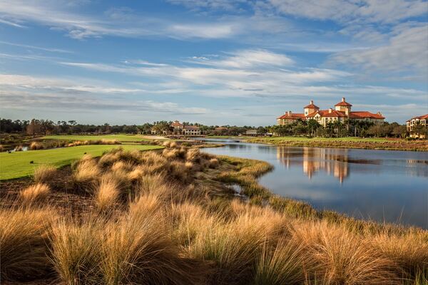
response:
{"label": "blue sky with streaks of white cloud above the horizon", "polygon": [[0,117],[274,125],[428,113],[428,1],[0,0]]}

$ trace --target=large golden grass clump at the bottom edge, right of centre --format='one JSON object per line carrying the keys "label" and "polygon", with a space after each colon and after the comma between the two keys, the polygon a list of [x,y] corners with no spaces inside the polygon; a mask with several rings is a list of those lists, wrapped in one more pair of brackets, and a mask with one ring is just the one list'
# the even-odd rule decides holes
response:
{"label": "large golden grass clump at the bottom edge, right of centre", "polygon": [[304,258],[314,261],[309,269],[322,284],[399,284],[399,269],[370,241],[326,222],[297,223],[292,239],[304,247]]}

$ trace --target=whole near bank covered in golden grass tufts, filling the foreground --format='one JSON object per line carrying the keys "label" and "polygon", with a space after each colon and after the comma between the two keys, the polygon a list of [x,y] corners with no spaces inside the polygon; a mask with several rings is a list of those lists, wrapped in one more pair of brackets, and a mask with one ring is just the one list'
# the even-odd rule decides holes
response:
{"label": "whole near bank covered in golden grass tufts, filling the foreground", "polygon": [[[270,170],[266,162],[165,146],[86,155],[62,174],[67,190],[58,170],[47,169],[19,189],[4,187],[1,279],[426,284],[427,231],[361,221],[350,227],[352,219],[262,189],[256,179]],[[233,195],[229,183],[250,199]]]}

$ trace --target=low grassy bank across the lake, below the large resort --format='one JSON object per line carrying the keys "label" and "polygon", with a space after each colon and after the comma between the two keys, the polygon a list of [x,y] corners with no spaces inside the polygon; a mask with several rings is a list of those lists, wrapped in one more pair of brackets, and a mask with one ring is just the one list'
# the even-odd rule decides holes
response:
{"label": "low grassy bank across the lake, below the large resort", "polygon": [[296,147],[361,148],[367,150],[428,151],[428,140],[402,140],[387,138],[305,138],[272,137],[247,138],[247,142]]}

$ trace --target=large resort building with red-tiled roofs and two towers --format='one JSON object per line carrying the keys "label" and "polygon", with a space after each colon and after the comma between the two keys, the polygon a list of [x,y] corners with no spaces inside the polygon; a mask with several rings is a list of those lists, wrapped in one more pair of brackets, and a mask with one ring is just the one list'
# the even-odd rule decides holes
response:
{"label": "large resort building with red-tiled roofs and two towers", "polygon": [[303,108],[303,113],[285,112],[277,118],[278,125],[287,125],[296,120],[316,120],[320,125],[326,126],[327,123],[341,122],[345,120],[362,120],[372,123],[383,123],[384,116],[380,112],[374,114],[368,111],[352,111],[352,104],[347,103],[345,97],[335,105],[335,108],[320,110],[320,107],[310,100],[310,104]]}

